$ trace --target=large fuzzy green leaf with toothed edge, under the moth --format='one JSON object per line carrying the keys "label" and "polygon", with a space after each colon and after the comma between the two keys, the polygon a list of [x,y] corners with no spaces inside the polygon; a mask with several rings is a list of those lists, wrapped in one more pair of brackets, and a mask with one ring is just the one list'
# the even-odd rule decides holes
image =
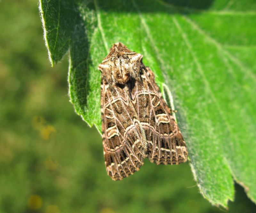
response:
{"label": "large fuzzy green leaf with toothed edge, under the moth", "polygon": [[69,49],[70,99],[90,126],[100,131],[97,66],[122,42],[172,91],[203,196],[227,207],[235,179],[256,201],[254,0],[41,0],[40,9],[50,60]]}

